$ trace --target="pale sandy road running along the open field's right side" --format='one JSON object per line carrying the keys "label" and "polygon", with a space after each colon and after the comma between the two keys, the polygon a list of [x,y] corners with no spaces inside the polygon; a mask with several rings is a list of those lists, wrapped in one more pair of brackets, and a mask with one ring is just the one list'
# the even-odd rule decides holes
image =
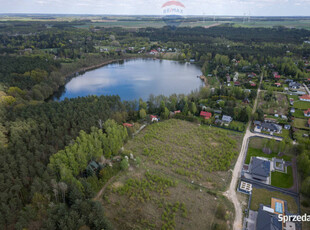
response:
{"label": "pale sandy road running along the open field's right side", "polygon": [[[262,80],[263,80],[263,75],[261,75],[259,87],[257,90],[257,97],[255,99],[253,110],[252,110],[252,115],[256,111],[258,96],[259,96],[259,93],[261,91],[260,88],[261,88]],[[238,157],[237,162],[235,164],[235,168],[234,168],[233,173],[232,173],[232,179],[230,182],[229,189],[224,193],[224,195],[234,204],[234,207],[235,207],[234,230],[242,229],[242,207],[241,207],[241,204],[237,198],[236,188],[237,188],[238,179],[239,179],[239,176],[241,173],[241,169],[243,166],[243,159],[244,159],[246,152],[247,152],[247,145],[248,145],[248,142],[250,140],[249,138],[258,136],[258,137],[282,140],[282,138],[279,138],[279,137],[273,137],[273,136],[263,135],[263,134],[259,134],[259,133],[252,133],[250,131],[251,122],[252,122],[252,120],[249,121],[245,135],[243,137],[240,154],[239,154],[239,157]]]}

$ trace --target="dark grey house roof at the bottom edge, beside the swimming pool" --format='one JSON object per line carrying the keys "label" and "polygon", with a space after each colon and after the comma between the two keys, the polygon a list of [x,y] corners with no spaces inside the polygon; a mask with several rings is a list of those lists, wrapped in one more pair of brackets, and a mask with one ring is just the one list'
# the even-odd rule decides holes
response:
{"label": "dark grey house roof at the bottom edge, beside the swimming pool", "polygon": [[256,220],[256,230],[282,230],[282,222],[278,220],[277,215],[264,211],[263,205],[260,205]]}

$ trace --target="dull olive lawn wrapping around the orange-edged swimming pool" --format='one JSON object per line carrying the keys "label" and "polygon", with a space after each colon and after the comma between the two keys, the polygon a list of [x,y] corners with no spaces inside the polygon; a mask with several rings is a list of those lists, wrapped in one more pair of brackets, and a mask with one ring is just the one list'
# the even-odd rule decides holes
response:
{"label": "dull olive lawn wrapping around the orange-edged swimming pool", "polygon": [[293,197],[285,195],[281,192],[274,192],[267,189],[258,188],[253,188],[252,190],[250,209],[258,211],[260,204],[271,205],[271,198],[278,198],[287,201],[288,211],[291,213],[298,212],[297,203]]}

